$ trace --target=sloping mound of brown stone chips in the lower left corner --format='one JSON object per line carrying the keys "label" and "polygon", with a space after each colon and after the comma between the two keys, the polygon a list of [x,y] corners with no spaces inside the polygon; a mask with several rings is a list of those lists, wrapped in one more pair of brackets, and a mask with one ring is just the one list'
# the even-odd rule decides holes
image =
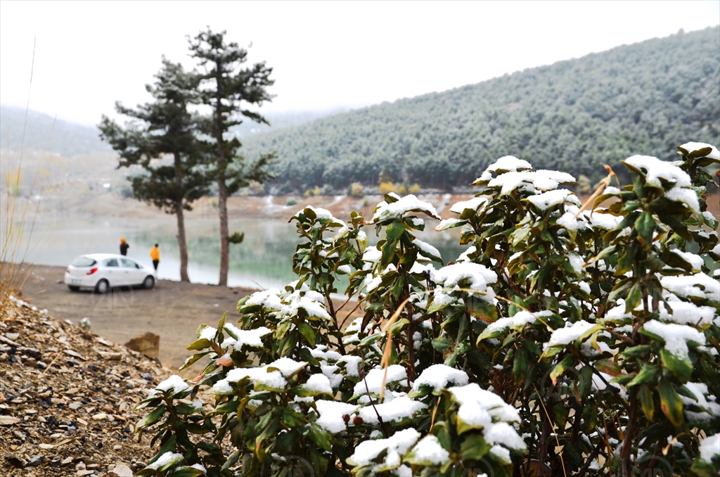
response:
{"label": "sloping mound of brown stone chips in the lower left corner", "polygon": [[138,404],[171,371],[19,300],[0,310],[0,476],[132,476]]}

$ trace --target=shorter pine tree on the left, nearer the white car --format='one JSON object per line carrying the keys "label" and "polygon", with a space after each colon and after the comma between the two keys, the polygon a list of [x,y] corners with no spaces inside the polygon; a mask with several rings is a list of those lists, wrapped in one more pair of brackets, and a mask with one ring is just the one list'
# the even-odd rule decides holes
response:
{"label": "shorter pine tree on the left, nearer the white car", "polygon": [[[180,279],[189,282],[184,210],[208,192],[210,178],[204,172],[207,151],[197,140],[200,118],[189,112],[189,104],[199,103],[199,78],[184,71],[181,64],[163,57],[155,84],[145,85],[155,102],[134,110],[115,103],[115,110],[139,122],[126,128],[107,116],[98,125],[100,137],[120,154],[120,167],[142,166],[143,174],[130,178],[132,196],[176,215],[180,249]],[[172,156],[172,164],[153,164],[155,159]]]}

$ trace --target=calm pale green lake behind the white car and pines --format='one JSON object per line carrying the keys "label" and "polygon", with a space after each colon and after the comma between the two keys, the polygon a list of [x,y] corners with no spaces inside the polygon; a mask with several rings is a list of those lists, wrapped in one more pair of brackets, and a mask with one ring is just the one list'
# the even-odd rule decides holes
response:
{"label": "calm pale green lake behind the white car and pines", "polygon": [[[292,212],[288,214],[288,218],[290,215]],[[416,235],[435,246],[446,262],[456,259],[466,248],[458,244],[459,228],[450,232],[436,232],[431,229],[433,226],[436,226],[435,220],[426,220],[426,231]],[[188,273],[192,282],[217,283],[220,267],[219,230],[217,216],[186,220]],[[375,236],[374,226],[366,226],[364,230],[369,242],[376,243],[378,238]],[[294,225],[287,223],[287,219],[232,219],[230,233],[235,231],[244,232],[245,240],[239,245],[230,244],[229,286],[283,287],[297,279],[292,272],[292,254],[300,239],[295,234]],[[158,243],[161,250],[158,277],[180,280],[176,233],[174,215],[158,218],[96,216],[60,220],[40,217],[32,232],[32,245],[26,262],[65,267],[81,254],[117,254],[120,238],[125,237],[130,244],[128,257],[150,267],[150,248]],[[28,231],[25,235],[28,235]]]}

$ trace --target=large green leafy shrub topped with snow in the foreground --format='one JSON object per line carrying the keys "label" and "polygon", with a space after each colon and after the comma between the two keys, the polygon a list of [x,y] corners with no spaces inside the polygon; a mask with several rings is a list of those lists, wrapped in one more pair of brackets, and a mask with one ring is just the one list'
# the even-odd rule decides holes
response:
{"label": "large green leafy shrub topped with snow in the foreground", "polygon": [[201,326],[186,366],[207,367],[140,404],[159,450],[138,475],[716,475],[720,156],[678,149],[627,159],[633,183],[588,207],[570,175],[499,159],[436,226],[462,227],[449,264],[413,195],[348,223],[300,210],[298,280]]}

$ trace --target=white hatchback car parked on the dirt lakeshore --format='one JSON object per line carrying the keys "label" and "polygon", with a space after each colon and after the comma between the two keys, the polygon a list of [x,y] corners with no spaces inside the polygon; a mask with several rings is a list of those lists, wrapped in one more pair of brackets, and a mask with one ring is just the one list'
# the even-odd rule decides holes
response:
{"label": "white hatchback car parked on the dirt lakeshore", "polygon": [[74,292],[80,287],[105,293],[112,287],[143,285],[152,288],[158,280],[152,267],[115,254],[81,255],[65,270],[65,283]]}

